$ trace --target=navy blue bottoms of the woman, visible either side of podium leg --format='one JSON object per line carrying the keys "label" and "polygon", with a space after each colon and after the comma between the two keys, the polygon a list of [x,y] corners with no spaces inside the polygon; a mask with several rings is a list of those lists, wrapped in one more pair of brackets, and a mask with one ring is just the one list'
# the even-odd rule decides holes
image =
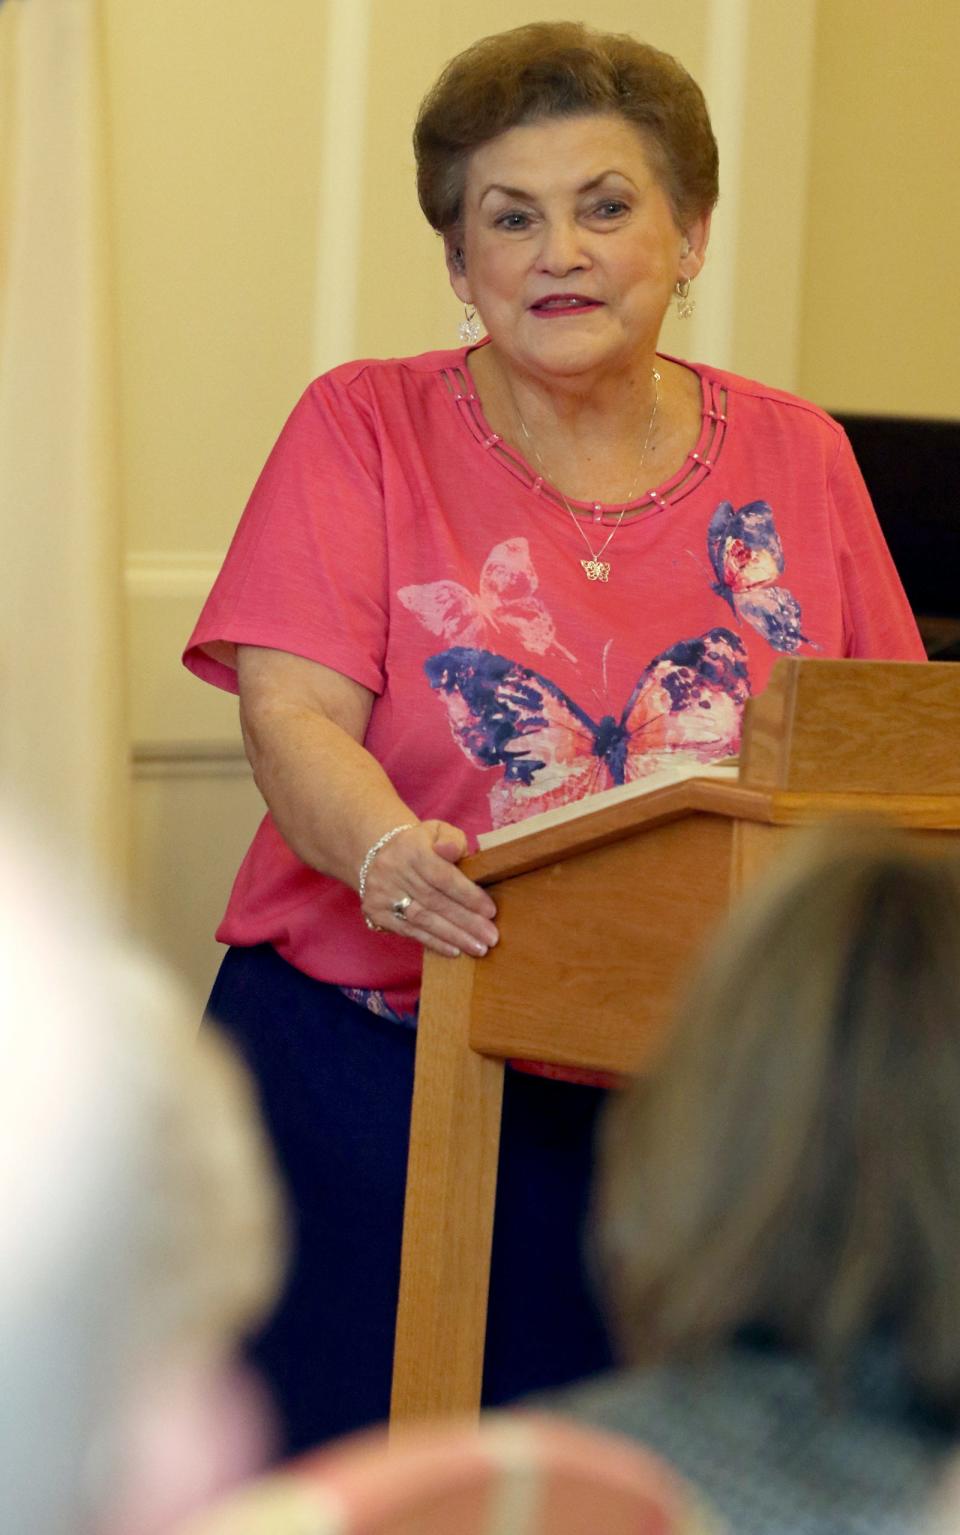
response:
{"label": "navy blue bottoms of the woman, visible either side of podium leg", "polygon": [[[295,1454],[389,1412],[415,1035],[269,944],[229,950],[209,1015],[253,1073],[293,1211],[287,1286],[250,1357]],[[584,1263],[605,1096],[505,1073],[485,1405],[611,1363]]]}

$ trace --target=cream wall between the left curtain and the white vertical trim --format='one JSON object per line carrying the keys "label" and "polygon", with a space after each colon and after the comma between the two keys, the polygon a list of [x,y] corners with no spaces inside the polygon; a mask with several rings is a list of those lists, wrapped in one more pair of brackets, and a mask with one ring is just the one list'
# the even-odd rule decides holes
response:
{"label": "cream wall between the left curtain and the white vertical trim", "polygon": [[132,893],[206,992],[261,814],[235,700],[180,649],[312,370],[327,8],[104,0],[126,520]]}

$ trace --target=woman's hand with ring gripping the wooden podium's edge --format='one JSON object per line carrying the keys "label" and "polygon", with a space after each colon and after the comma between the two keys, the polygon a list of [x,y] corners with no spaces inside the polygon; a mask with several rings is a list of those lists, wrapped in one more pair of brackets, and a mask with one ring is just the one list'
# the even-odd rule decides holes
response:
{"label": "woman's hand with ring gripping the wooden podium's edge", "polygon": [[[479,884],[455,867],[465,852],[465,835],[447,821],[419,821],[399,832],[367,870],[364,915],[438,955],[485,955],[499,936],[493,926],[496,907]],[[401,916],[395,903],[404,896],[410,904]]]}

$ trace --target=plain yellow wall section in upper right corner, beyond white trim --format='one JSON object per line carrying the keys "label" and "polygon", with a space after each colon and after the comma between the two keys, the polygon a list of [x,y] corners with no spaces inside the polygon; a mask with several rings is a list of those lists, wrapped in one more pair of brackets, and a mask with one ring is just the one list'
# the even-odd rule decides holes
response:
{"label": "plain yellow wall section in upper right corner, beyond white trim", "polygon": [[955,0],[819,8],[799,382],[834,410],[960,416],[958,69]]}

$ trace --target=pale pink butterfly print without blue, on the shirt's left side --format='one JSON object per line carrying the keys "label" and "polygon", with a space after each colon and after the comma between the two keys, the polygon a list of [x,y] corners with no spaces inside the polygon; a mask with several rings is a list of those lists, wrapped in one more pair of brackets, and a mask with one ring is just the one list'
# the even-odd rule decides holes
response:
{"label": "pale pink butterfly print without blue, on the shirt's left side", "polygon": [[576,655],[558,642],[556,625],[536,596],[538,586],[527,539],[505,539],[490,550],[479,591],[468,591],[458,580],[433,580],[424,586],[401,586],[396,596],[447,645],[488,643],[505,631],[518,635],[535,655],[554,649],[576,662]]}

